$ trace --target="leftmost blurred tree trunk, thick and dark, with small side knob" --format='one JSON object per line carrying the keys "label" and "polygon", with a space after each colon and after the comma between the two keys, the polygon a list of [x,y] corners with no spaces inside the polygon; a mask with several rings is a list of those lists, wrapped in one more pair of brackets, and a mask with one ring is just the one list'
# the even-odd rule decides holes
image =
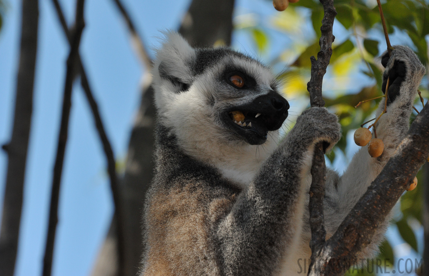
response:
{"label": "leftmost blurred tree trunk, thick and dark, with small side knob", "polygon": [[8,154],[6,188],[0,231],[0,275],[12,276],[18,251],[25,165],[33,110],[39,3],[22,1],[21,45],[12,138],[3,146]]}

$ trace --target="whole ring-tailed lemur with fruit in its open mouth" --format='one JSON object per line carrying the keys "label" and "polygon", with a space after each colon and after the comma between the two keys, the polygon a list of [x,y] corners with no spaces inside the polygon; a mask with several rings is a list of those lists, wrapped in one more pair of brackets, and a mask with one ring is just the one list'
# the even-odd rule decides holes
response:
{"label": "whole ring-tailed lemur with fruit in its open mouth", "polygon": [[[382,64],[391,83],[387,114],[377,124],[384,152],[371,158],[363,147],[341,177],[327,171],[328,237],[408,131],[425,67],[403,46]],[[327,150],[338,142],[337,116],[326,108],[305,110],[279,141],[276,130],[289,104],[270,69],[228,48],[193,49],[177,33],[168,33],[158,50],[153,77],[156,169],[145,207],[141,275],[306,274],[298,260],[311,253],[312,153],[318,141],[327,142]],[[377,114],[383,108],[381,101]],[[363,256],[378,250],[386,224]]]}

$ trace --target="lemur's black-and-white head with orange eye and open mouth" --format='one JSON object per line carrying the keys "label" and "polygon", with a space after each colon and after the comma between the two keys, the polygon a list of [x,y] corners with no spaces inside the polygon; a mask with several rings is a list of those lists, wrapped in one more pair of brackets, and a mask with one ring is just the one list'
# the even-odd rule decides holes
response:
{"label": "lemur's black-and-white head with orange eye and open mouth", "polygon": [[229,48],[192,49],[175,33],[157,53],[154,83],[160,115],[178,133],[210,130],[230,142],[261,145],[288,115],[269,68]]}

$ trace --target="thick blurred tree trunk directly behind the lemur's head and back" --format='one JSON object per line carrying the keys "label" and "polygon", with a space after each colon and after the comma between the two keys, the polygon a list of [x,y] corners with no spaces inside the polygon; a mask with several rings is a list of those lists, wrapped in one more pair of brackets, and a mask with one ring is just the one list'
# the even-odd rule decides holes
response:
{"label": "thick blurred tree trunk directly behind the lemur's head and back", "polygon": [[[191,46],[212,46],[215,42],[230,45],[233,8],[234,0],[193,0],[182,20],[179,32]],[[131,131],[125,176],[121,183],[125,224],[125,271],[115,271],[117,270],[115,229],[111,226],[97,258],[93,276],[135,276],[139,269],[142,255],[142,209],[154,170],[152,154],[156,110],[150,81],[149,78],[146,79],[142,88],[142,100]],[[106,270],[106,265],[111,268]]]}

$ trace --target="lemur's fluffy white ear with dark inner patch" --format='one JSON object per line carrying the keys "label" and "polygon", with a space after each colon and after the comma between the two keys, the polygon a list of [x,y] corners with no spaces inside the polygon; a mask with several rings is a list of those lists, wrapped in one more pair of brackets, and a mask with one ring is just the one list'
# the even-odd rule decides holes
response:
{"label": "lemur's fluffy white ear with dark inner patch", "polygon": [[157,51],[154,73],[172,82],[175,92],[180,93],[187,90],[193,81],[192,64],[196,51],[178,33],[168,32],[165,36],[161,49]]}

